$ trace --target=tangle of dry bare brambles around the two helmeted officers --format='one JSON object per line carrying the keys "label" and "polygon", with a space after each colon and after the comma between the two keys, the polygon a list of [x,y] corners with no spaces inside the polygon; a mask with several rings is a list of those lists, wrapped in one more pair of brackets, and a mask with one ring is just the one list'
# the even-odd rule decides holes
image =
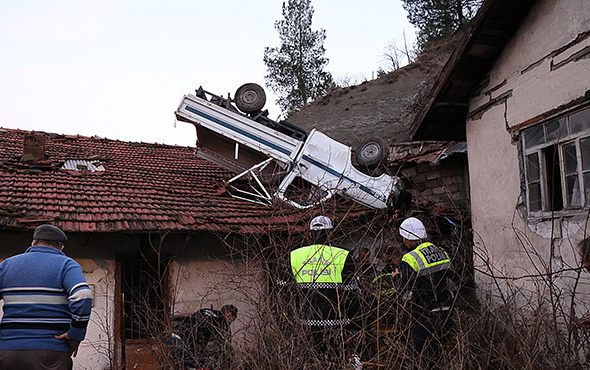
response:
{"label": "tangle of dry bare brambles around the two helmeted officers", "polygon": [[[470,225],[461,215],[433,215],[425,209],[411,212],[422,219],[431,239],[444,247],[453,261],[455,291],[455,328],[444,344],[438,366],[444,369],[582,369],[587,358],[588,333],[578,325],[572,309],[575,289],[557,289],[546,274],[527,276],[528,290],[518,277],[501,276],[488,266],[478,271],[488,283],[475,289],[473,246]],[[410,213],[408,213],[410,215]],[[404,215],[405,217],[406,215]],[[378,253],[396,243],[395,219],[400,215],[374,214],[340,219],[334,245],[352,245],[356,255],[370,240]],[[360,226],[359,226],[360,225]],[[222,239],[226,241],[227,239]],[[343,346],[344,331],[330,338],[329,345],[341,350],[341,356],[327,356],[312,348],[310,333],[299,324],[296,299],[282,292],[274,283],[289,266],[288,255],[294,247],[306,243],[303,233],[257,237],[244,244],[229,245],[236,260],[255,265],[265,275],[268,285],[256,294],[241,291],[241,276],[229,276],[235,300],[260,296],[257,311],[247,318],[248,335],[241,348],[229,356],[222,367],[231,369],[349,369],[346,354],[358,353],[364,369],[406,369],[415,366],[409,333],[409,307],[397,296],[375,298],[363,295],[364,337],[357,346]],[[478,250],[481,257],[485,251]],[[577,271],[579,277],[579,269]],[[553,273],[550,272],[549,276]],[[530,287],[536,287],[531,289]],[[566,294],[567,293],[567,294]],[[146,315],[142,311],[143,315]],[[152,322],[152,321],[150,321]],[[378,327],[380,330],[375,330]],[[161,335],[161,325],[154,325],[154,337]],[[169,362],[162,360],[163,368]]]}

